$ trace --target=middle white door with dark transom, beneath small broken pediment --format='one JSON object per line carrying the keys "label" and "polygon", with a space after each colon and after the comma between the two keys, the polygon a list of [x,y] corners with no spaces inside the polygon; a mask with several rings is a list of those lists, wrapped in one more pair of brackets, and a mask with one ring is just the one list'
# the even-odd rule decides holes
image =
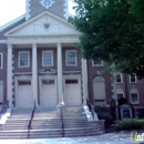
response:
{"label": "middle white door with dark transom, beneath small broken pediment", "polygon": [[40,106],[55,107],[58,104],[55,79],[40,79]]}

